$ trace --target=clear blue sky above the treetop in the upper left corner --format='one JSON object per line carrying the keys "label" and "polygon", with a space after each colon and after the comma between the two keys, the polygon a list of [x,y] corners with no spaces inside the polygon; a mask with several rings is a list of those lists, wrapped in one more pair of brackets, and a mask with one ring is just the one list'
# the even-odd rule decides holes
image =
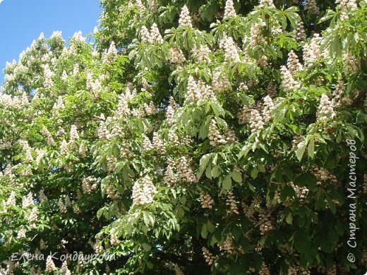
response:
{"label": "clear blue sky above the treetop in the upper left corner", "polygon": [[6,61],[18,61],[20,52],[37,39],[60,30],[67,41],[74,32],[93,32],[102,8],[99,0],[4,0],[0,4],[0,82]]}

